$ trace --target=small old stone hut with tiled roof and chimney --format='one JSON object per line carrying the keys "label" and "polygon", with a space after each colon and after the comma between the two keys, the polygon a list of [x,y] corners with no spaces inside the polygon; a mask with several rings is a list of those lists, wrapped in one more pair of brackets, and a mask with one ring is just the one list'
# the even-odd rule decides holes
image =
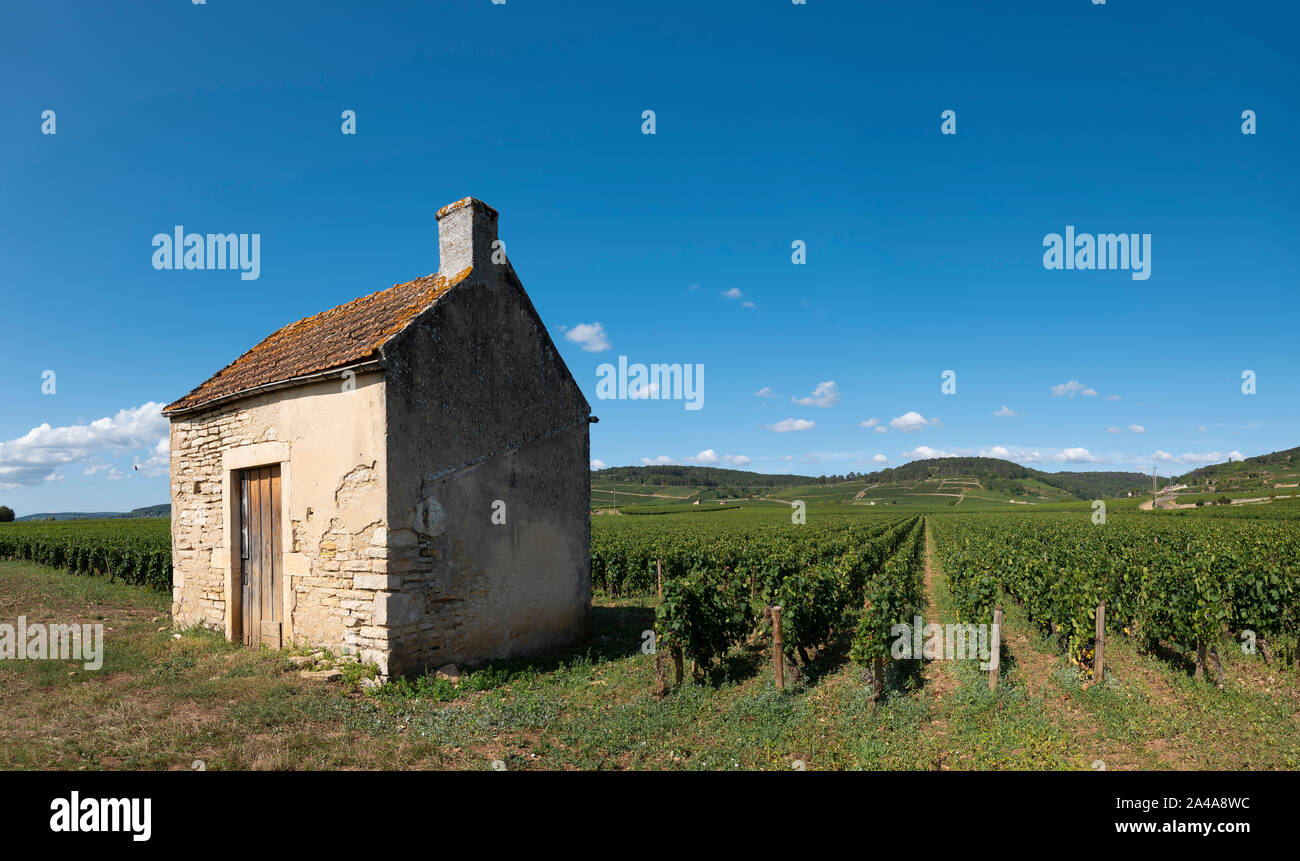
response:
{"label": "small old stone hut with tiled roof and chimney", "polygon": [[173,618],[385,676],[528,656],[590,614],[590,407],[497,241],[292,323],[164,410]]}

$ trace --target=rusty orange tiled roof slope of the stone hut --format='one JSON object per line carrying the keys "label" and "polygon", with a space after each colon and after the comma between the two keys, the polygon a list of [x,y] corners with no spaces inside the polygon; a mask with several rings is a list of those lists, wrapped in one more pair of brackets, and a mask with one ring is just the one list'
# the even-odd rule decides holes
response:
{"label": "rusty orange tiled roof slope of the stone hut", "polygon": [[162,412],[192,410],[272,382],[377,358],[380,347],[467,274],[469,269],[450,280],[429,274],[291,323]]}

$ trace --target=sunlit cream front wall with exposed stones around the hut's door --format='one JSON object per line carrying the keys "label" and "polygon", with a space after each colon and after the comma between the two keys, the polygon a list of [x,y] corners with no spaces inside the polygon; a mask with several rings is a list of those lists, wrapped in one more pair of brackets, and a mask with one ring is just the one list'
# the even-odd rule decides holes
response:
{"label": "sunlit cream front wall with exposed stones around the hut's door", "polygon": [[374,624],[387,574],[385,386],[380,373],[273,391],[172,421],[173,616],[234,632],[238,470],[281,466],[285,644],[384,667]]}

